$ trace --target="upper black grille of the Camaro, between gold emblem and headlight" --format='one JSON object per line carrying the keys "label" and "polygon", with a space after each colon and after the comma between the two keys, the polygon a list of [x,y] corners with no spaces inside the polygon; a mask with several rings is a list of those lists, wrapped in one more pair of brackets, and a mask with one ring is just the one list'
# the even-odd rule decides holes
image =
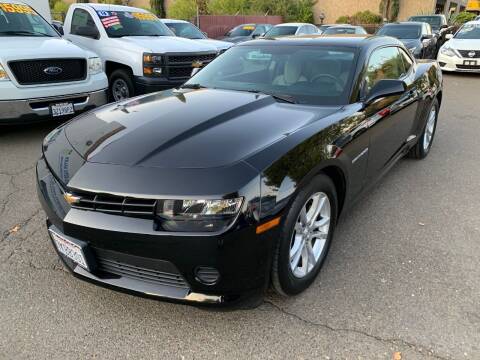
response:
{"label": "upper black grille of the Camaro, between gold emblem and headlight", "polygon": [[79,200],[72,204],[73,208],[124,216],[153,218],[157,204],[153,199],[93,193],[75,193],[74,195],[78,196]]}

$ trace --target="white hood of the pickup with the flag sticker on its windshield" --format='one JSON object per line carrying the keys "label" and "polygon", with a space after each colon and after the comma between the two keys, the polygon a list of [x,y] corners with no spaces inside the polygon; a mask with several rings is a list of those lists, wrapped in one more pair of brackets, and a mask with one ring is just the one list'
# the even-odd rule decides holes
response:
{"label": "white hood of the pickup with the flag sticker on its windshield", "polygon": [[216,47],[178,36],[124,36],[116,39],[124,47],[136,45],[154,53],[215,52]]}

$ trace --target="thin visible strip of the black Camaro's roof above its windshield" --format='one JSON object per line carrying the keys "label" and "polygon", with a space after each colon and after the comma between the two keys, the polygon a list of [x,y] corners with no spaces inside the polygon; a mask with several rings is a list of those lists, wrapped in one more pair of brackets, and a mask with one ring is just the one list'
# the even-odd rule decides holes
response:
{"label": "thin visible strip of the black Camaro's roof above its windshield", "polygon": [[[270,42],[270,43],[269,43]],[[323,45],[323,46],[345,46],[355,48],[377,47],[381,45],[402,46],[402,42],[389,36],[376,35],[302,35],[302,36],[283,36],[251,40],[237,46],[248,45]]]}

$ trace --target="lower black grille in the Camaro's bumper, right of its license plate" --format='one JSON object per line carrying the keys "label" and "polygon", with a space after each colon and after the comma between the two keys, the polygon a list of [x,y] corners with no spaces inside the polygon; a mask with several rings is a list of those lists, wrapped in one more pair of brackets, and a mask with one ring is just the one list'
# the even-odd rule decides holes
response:
{"label": "lower black grille in the Camaro's bumper, right of its license plate", "polygon": [[172,286],[178,288],[188,289],[189,286],[185,279],[178,272],[165,272],[156,269],[147,269],[132,264],[127,264],[121,261],[105,258],[95,251],[97,260],[97,271],[124,276],[130,279],[135,279],[143,282],[153,283],[157,285]]}

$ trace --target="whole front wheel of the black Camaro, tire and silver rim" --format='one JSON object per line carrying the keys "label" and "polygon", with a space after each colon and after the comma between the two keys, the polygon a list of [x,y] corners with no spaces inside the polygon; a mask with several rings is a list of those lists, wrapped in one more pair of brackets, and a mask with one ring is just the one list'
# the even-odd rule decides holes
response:
{"label": "whole front wheel of the black Camaro, tire and silver rim", "polygon": [[282,223],[272,262],[272,284],[281,295],[308,288],[327,256],[337,220],[337,192],[326,175],[302,189]]}

